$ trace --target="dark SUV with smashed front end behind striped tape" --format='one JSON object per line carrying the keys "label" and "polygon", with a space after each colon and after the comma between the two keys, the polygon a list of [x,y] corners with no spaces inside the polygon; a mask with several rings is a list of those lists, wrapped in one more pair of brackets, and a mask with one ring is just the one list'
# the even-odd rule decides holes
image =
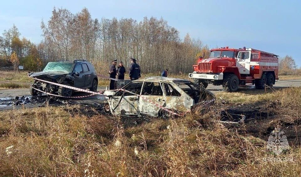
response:
{"label": "dark SUV with smashed front end behind striped tape", "polygon": [[[93,92],[97,91],[98,78],[95,68],[86,60],[48,62],[42,72],[31,72],[29,77],[38,78],[54,83],[60,83],[77,87],[80,89],[90,89]],[[39,89],[47,93],[58,93],[60,96],[69,97],[72,95],[72,89],[53,85],[50,83],[34,80],[31,84],[30,94],[37,95]]]}

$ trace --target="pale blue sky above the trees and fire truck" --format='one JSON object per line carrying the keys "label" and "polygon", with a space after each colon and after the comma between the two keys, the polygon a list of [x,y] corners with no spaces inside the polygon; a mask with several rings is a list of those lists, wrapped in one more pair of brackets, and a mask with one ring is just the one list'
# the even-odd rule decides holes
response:
{"label": "pale blue sky above the trees and fire truck", "polygon": [[180,31],[189,33],[210,48],[251,47],[272,52],[280,57],[293,56],[301,66],[301,1],[89,1],[52,0],[1,2],[0,33],[15,24],[21,35],[39,43],[40,22],[50,19],[53,7],[77,13],[86,7],[93,18],[163,18]]}

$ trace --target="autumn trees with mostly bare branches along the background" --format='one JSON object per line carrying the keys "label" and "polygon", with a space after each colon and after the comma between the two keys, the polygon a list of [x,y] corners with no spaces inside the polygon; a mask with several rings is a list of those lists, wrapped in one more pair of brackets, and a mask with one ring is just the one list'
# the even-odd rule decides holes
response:
{"label": "autumn trees with mostly bare branches along the background", "polygon": [[[14,65],[39,71],[50,61],[86,59],[99,72],[106,72],[112,60],[129,67],[130,57],[138,60],[144,73],[168,69],[171,73],[192,71],[198,56],[208,58],[209,48],[201,40],[187,34],[184,40],[179,31],[164,19],[145,17],[135,19],[93,19],[87,8],[73,14],[65,8],[54,8],[48,22],[41,22],[43,40],[33,44],[20,39],[13,25],[0,36],[0,54]],[[17,59],[16,59],[17,58]],[[17,61],[17,62],[16,62]],[[279,64],[283,74],[292,73],[293,59],[284,57]],[[293,61],[294,62],[294,61]],[[295,66],[295,72],[297,68]]]}

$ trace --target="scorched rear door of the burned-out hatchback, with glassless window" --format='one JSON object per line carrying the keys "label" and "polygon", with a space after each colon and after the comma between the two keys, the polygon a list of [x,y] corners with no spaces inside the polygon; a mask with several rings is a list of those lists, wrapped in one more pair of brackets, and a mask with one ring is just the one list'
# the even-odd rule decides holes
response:
{"label": "scorched rear door of the burned-out hatchback, with glassless window", "polygon": [[144,98],[139,99],[139,111],[141,114],[146,114],[150,116],[158,116],[158,113],[161,108],[154,105],[158,104],[160,106],[165,106],[166,96],[163,94],[162,85],[160,82],[144,82],[141,96],[151,100],[153,103],[150,103]]}

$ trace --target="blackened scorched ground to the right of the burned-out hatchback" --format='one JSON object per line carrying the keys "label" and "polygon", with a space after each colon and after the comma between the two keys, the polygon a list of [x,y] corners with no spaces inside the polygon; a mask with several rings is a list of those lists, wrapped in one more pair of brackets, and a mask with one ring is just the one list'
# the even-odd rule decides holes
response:
{"label": "blackened scorched ground to the right of the burned-out hatchback", "polygon": [[[223,105],[221,120],[225,113],[245,115],[246,119],[239,126],[228,125],[234,131],[249,134],[265,141],[278,125],[282,128],[290,145],[300,146],[301,120],[279,112],[279,103],[256,102],[243,105]],[[231,116],[229,116],[231,117]],[[232,118],[232,117],[231,117]],[[233,117],[235,119],[235,117]],[[236,116],[237,118],[237,116]],[[230,119],[230,121],[232,121]]]}

